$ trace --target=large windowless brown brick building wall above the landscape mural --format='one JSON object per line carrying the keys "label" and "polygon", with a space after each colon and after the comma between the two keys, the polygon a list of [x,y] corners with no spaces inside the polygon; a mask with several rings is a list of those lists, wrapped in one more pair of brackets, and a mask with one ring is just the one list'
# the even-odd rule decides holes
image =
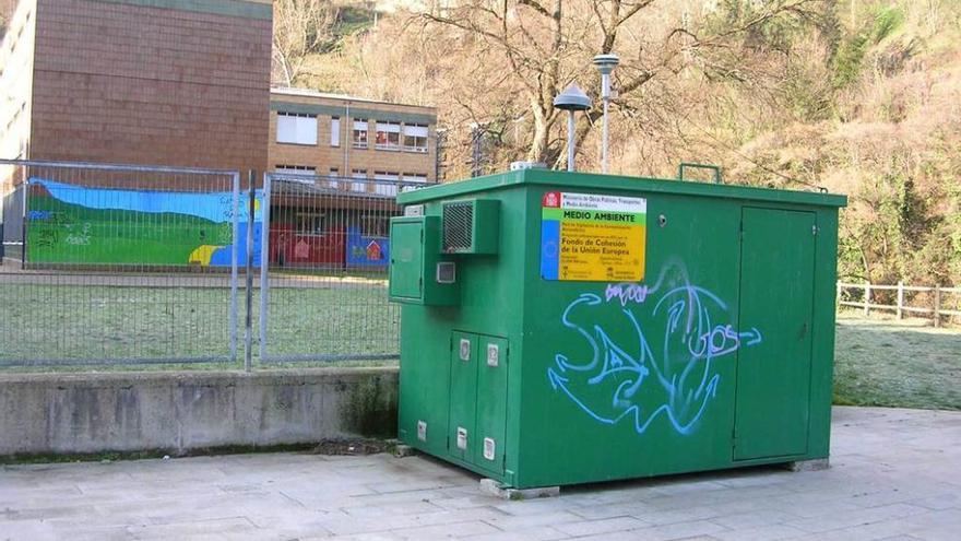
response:
{"label": "large windowless brown brick building wall above the landscape mural", "polygon": [[270,0],[21,0],[0,155],[266,166]]}

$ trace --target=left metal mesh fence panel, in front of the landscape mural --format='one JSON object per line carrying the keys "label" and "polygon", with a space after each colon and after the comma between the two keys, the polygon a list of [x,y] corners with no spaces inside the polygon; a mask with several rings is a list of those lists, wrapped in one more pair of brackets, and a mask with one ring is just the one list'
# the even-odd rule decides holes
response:
{"label": "left metal mesh fence panel, in front of the landscape mural", "polygon": [[4,200],[23,201],[22,248],[0,267],[0,366],[237,360],[237,173],[0,166],[16,186]]}

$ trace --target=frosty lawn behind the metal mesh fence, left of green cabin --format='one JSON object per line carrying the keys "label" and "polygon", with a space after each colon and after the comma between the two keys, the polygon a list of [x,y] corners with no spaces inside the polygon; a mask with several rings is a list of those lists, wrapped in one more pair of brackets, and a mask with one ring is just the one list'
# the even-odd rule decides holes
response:
{"label": "frosty lawn behind the metal mesh fence, left of green cabin", "polygon": [[[388,303],[383,285],[276,287],[271,290],[269,309],[269,353],[273,355],[382,355],[398,351],[400,310]],[[254,357],[259,353],[259,313],[256,296]],[[245,317],[241,289],[241,358]],[[229,354],[228,318],[229,290],[225,287],[0,284],[0,363],[14,358],[223,356]]]}

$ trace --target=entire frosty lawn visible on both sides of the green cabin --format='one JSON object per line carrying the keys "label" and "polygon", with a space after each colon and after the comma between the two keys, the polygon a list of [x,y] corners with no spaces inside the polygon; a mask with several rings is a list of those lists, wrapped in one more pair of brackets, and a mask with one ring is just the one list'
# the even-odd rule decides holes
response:
{"label": "entire frosty lawn visible on both sides of the green cabin", "polygon": [[[0,284],[0,363],[11,358],[227,355],[228,295],[229,291],[223,287]],[[246,315],[244,301],[241,289],[238,298],[240,358]],[[358,281],[330,287],[274,287],[270,310],[271,355],[316,352],[383,355],[398,351],[400,309],[388,303],[381,283]],[[256,362],[259,356],[259,313],[260,303],[256,296],[252,314]],[[834,401],[841,404],[961,410],[961,330],[933,329],[924,325],[920,320],[840,317]],[[118,367],[144,368],[130,364]],[[156,366],[157,369],[185,367]],[[190,367],[238,368],[240,363],[204,363]]]}

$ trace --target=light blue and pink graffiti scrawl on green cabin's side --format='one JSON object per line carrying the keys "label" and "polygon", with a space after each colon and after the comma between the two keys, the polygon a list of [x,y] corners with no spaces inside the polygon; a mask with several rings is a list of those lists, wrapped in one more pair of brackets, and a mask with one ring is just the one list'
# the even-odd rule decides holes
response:
{"label": "light blue and pink graffiti scrawl on green cabin's side", "polygon": [[733,319],[727,302],[691,284],[678,263],[650,286],[610,283],[568,304],[560,324],[590,355],[558,351],[547,378],[598,423],[627,423],[638,434],[664,423],[690,434],[722,385],[715,361],[763,340]]}

